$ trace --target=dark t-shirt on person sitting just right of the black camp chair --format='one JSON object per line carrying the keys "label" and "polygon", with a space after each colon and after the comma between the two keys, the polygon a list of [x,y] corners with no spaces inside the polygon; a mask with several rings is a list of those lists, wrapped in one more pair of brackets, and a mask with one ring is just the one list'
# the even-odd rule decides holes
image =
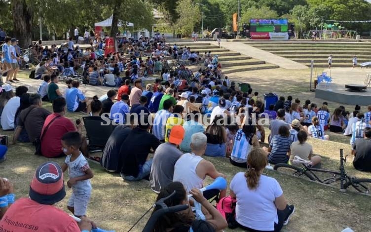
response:
{"label": "dark t-shirt on person sitting just right of the black camp chair", "polygon": [[131,128],[126,125],[118,125],[114,128],[103,150],[101,165],[104,168],[117,172],[121,170],[122,158],[119,156],[119,151],[122,142],[124,142],[130,132]]}

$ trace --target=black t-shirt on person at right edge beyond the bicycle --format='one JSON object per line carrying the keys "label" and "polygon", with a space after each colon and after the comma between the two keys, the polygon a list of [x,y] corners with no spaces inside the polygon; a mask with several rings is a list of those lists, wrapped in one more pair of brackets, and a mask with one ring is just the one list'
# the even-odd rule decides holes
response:
{"label": "black t-shirt on person at right edge beyond the bicycle", "polygon": [[359,171],[371,172],[371,139],[356,139],[352,147],[356,151],[353,166]]}

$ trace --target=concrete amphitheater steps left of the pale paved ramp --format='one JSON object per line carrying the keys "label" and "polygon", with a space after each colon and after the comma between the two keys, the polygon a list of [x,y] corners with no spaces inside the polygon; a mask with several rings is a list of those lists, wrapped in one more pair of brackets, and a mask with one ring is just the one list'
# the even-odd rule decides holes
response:
{"label": "concrete amphitheater steps left of the pale paved ramp", "polygon": [[[173,43],[170,45],[173,45]],[[219,48],[218,46],[210,43],[177,43],[177,45],[178,47],[187,46],[190,48],[191,51],[200,52],[200,55],[208,51],[211,51],[212,56],[218,55],[218,60],[222,65],[223,74],[231,74],[258,69],[278,68],[278,66],[276,65],[266,64],[265,61],[241,55],[239,52]],[[204,66],[200,64],[189,67],[189,69],[193,72],[197,72],[200,68],[204,68]]]}

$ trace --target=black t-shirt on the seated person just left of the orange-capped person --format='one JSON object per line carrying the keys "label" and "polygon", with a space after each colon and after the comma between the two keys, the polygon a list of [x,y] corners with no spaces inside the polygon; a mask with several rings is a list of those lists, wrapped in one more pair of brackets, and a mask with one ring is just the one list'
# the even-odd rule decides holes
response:
{"label": "black t-shirt on the seated person just left of the orange-capped person", "polygon": [[158,139],[147,130],[134,128],[121,145],[120,157],[123,159],[121,173],[126,176],[138,176],[139,165],[143,165],[150,149],[156,150]]}

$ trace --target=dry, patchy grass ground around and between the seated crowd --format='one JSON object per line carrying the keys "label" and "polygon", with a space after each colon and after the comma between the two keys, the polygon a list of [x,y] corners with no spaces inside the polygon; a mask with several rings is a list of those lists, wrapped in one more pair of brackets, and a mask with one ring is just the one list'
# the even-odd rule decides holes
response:
{"label": "dry, patchy grass ground around and between the seated crowd", "polygon": [[[249,82],[253,89],[260,93],[276,92],[284,96],[290,94],[294,98],[299,97],[302,101],[310,99],[318,104],[322,100],[314,98],[314,94],[308,91],[305,82],[308,72],[307,70],[288,71],[284,69],[258,70],[236,73],[230,78],[236,82]],[[25,77],[26,74],[21,76]],[[282,77],[285,78],[285,81],[282,81]],[[331,111],[338,105],[338,103],[329,102]],[[44,103],[44,107],[51,110],[50,103]],[[350,107],[354,106],[345,105],[347,109]],[[364,111],[365,108],[362,110]],[[75,120],[85,115],[67,113],[66,116]],[[269,133],[268,129],[266,133]],[[9,131],[2,131],[1,134],[12,136],[12,132]],[[339,149],[344,149],[344,154],[350,153],[349,137],[334,133],[329,134],[332,141],[311,139],[309,143],[313,145],[314,152],[323,157],[322,168],[337,170]],[[28,195],[29,183],[39,164],[47,160],[59,163],[64,161],[64,158],[49,159],[34,155],[34,147],[31,144],[22,143],[9,146],[7,157],[5,162],[0,163],[0,176],[6,177],[15,184],[17,197]],[[227,176],[228,181],[235,173],[244,171],[242,168],[232,166],[226,158],[205,158],[213,162],[218,171]],[[92,179],[93,192],[88,206],[88,217],[104,229],[117,232],[129,230],[156,198],[156,194],[149,189],[149,182],[125,182],[119,175],[105,172],[96,163],[90,162],[90,165],[95,176]],[[346,170],[349,174],[357,177],[371,178],[370,173],[355,170],[351,164],[351,158],[346,163]],[[356,232],[371,231],[370,196],[360,195],[352,190],[340,193],[339,183],[324,186],[276,171],[265,171],[264,174],[278,180],[288,202],[297,208],[290,224],[284,227],[284,232],[340,232],[346,227],[350,227]],[[68,174],[66,173],[65,181],[67,180]],[[206,183],[210,182],[211,180],[208,178]],[[70,194],[71,190],[67,189],[66,198],[58,202],[56,206],[67,212],[67,200]],[[133,231],[142,231],[148,217],[149,215],[144,217]],[[240,230],[233,231],[239,232]]]}

